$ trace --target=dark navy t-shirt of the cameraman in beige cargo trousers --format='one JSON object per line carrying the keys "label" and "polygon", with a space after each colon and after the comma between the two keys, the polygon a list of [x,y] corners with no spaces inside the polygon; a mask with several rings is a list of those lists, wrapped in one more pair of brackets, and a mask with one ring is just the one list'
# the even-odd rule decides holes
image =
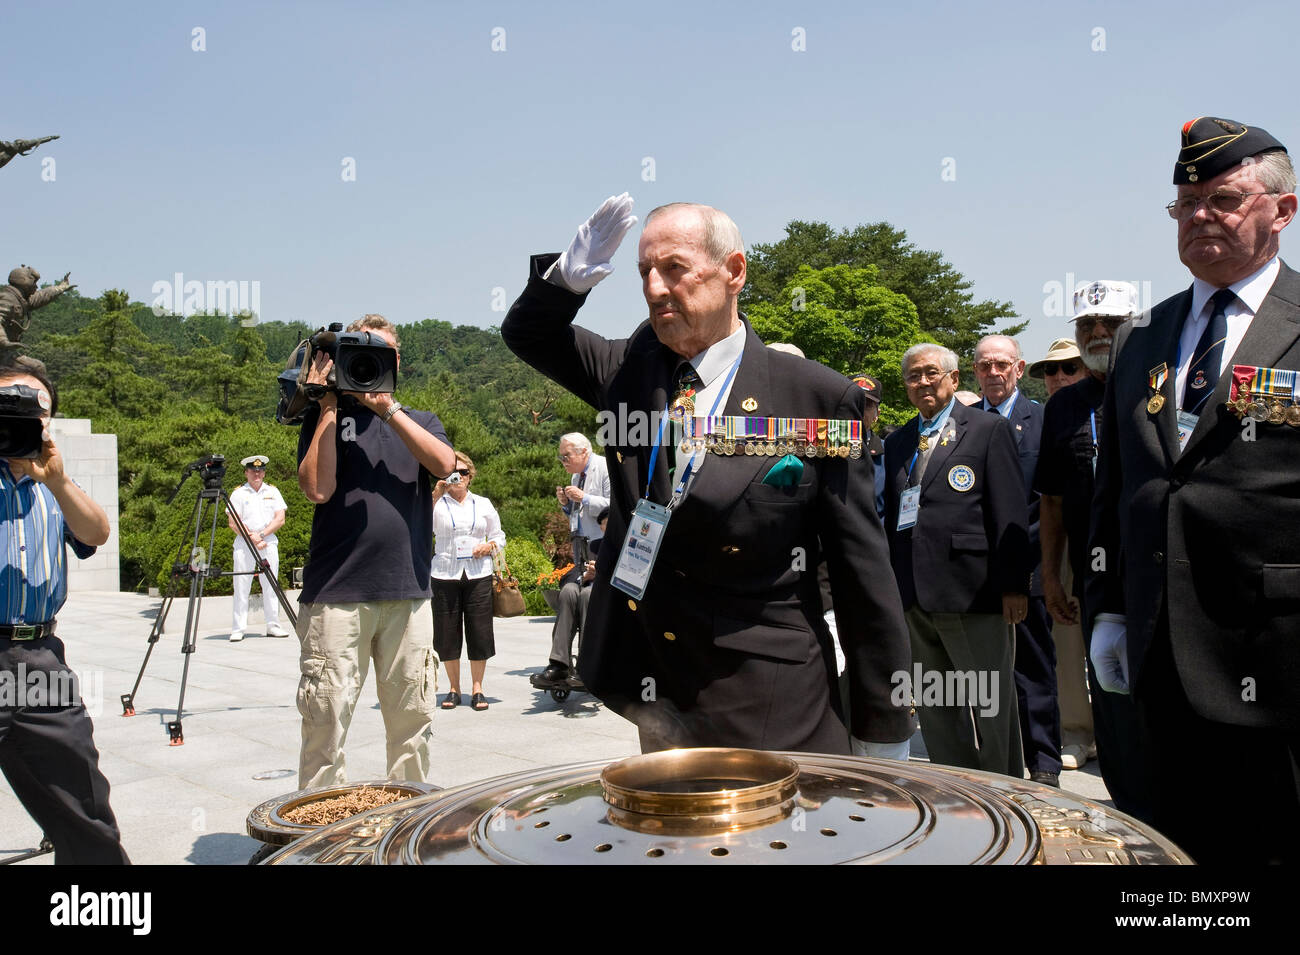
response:
{"label": "dark navy t-shirt of the cameraman in beige cargo trousers", "polygon": [[[438,416],[404,409],[451,446]],[[298,437],[298,461],[320,420],[313,404]],[[369,408],[344,395],[335,430],[334,496],[316,505],[303,603],[428,598],[433,561],[433,483],[402,438]]]}

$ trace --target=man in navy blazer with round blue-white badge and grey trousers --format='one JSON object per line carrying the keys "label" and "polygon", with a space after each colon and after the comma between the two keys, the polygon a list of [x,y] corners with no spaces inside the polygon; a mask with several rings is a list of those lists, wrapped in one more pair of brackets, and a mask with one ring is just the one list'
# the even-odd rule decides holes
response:
{"label": "man in navy blazer with round blue-white badge and grey trousers", "polygon": [[[956,400],[948,348],[909,348],[904,382],[919,413],[885,439],[885,531],[914,661],[957,691],[927,700],[913,687],[926,747],[935,763],[1019,777],[1014,625],[1031,557],[1015,438]],[[982,678],[997,691],[972,699]]]}

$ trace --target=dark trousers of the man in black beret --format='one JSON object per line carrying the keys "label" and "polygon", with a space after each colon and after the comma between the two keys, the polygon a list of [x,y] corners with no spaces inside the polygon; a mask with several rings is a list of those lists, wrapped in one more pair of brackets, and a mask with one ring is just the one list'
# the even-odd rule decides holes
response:
{"label": "dark trousers of the man in black beret", "polygon": [[1201,864],[1300,863],[1300,733],[1232,726],[1192,709],[1167,618],[1136,690],[1154,826]]}

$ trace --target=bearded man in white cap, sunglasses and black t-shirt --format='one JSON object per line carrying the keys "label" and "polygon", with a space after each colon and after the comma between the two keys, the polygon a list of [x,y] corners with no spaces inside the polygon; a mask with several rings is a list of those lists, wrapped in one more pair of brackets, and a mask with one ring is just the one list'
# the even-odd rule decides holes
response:
{"label": "bearded man in white cap, sunglasses and black t-shirt", "polygon": [[[1144,760],[1132,700],[1104,693],[1087,661],[1079,604],[1089,568],[1088,520],[1093,466],[1101,437],[1101,399],[1115,331],[1141,311],[1127,282],[1082,282],[1074,292],[1075,352],[1086,368],[1079,382],[1060,388],[1043,416],[1043,447],[1035,490],[1041,495],[1043,591],[1052,613],[1061,687],[1061,761],[1078,769],[1100,758],[1115,806],[1148,815]],[[1065,560],[1062,560],[1065,557]],[[1092,686],[1089,700],[1087,683]]]}

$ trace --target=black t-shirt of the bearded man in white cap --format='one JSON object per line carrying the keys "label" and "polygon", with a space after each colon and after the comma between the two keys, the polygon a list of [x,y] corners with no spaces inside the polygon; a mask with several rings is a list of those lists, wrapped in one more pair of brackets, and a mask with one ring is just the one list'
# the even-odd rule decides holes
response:
{"label": "black t-shirt of the bearded man in white cap", "polygon": [[1088,567],[1093,456],[1096,442],[1101,440],[1101,399],[1105,394],[1105,383],[1089,374],[1052,395],[1043,412],[1043,443],[1034,473],[1035,491],[1062,499],[1076,595],[1083,594]]}

